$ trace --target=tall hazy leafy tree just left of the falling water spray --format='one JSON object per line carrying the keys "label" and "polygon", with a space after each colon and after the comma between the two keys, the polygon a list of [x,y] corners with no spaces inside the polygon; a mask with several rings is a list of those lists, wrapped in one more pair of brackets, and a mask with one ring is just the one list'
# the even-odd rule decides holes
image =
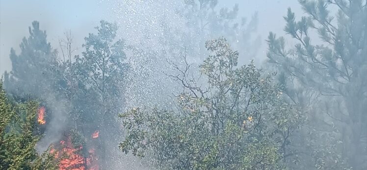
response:
{"label": "tall hazy leafy tree just left of the falling water spray", "polygon": [[[124,62],[125,43],[121,39],[116,40],[117,25],[101,21],[96,29],[97,34],[90,33],[85,38],[85,51],[82,56],[76,56],[73,74],[79,82],[76,84],[79,86],[77,100],[85,104],[77,110],[77,113],[82,113],[78,123],[89,132],[84,132],[85,135],[90,136],[96,129],[101,131],[100,155],[105,156],[107,152],[104,147],[112,145],[116,139],[117,131],[113,130],[118,129],[115,120],[122,103],[122,83],[127,64]],[[79,102],[76,102],[78,105]]]}

